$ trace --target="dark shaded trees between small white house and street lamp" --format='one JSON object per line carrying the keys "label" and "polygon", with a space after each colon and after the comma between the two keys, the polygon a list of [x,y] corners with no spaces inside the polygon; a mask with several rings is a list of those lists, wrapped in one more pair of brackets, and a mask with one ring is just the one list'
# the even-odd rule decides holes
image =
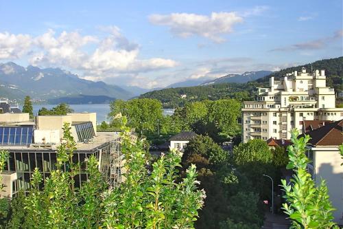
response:
{"label": "dark shaded trees between small white house and street lamp", "polygon": [[253,188],[257,183],[248,179],[243,169],[238,171],[228,152],[211,138],[199,135],[191,140],[182,163],[196,164],[200,188],[204,188],[207,195],[196,228],[261,227],[260,197]]}

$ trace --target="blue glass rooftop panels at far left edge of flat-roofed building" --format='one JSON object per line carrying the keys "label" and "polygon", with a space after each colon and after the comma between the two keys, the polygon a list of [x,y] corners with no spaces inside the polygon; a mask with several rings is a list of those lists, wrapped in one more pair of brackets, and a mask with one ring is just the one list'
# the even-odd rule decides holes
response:
{"label": "blue glass rooftop panels at far left edge of flat-roofed building", "polygon": [[32,143],[33,126],[0,127],[1,145],[29,145]]}

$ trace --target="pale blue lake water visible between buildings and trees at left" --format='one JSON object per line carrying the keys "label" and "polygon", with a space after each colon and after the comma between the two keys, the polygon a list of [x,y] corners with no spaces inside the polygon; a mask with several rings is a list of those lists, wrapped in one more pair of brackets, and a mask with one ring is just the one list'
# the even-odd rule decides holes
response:
{"label": "pale blue lake water visible between buildings and trees at left", "polygon": [[[42,107],[47,109],[51,109],[52,107],[56,107],[57,105],[33,105],[34,107],[34,115],[38,113],[38,110]],[[75,113],[80,112],[89,112],[89,113],[97,113],[97,122],[100,123],[102,121],[108,120],[108,113],[110,113],[110,105],[109,104],[82,104],[82,105],[70,105],[71,109],[74,110]],[[171,116],[174,113],[174,109],[163,109],[163,114],[165,116]]]}

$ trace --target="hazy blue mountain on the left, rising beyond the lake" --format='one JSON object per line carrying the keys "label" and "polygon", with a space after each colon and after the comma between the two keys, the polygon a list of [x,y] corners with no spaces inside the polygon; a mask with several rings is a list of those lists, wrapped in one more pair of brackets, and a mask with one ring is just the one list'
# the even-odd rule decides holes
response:
{"label": "hazy blue mountain on the left, rising beyond the lake", "polygon": [[60,68],[22,67],[12,62],[0,64],[0,96],[21,99],[26,95],[36,100],[80,95],[126,100],[134,96],[119,86],[84,80]]}

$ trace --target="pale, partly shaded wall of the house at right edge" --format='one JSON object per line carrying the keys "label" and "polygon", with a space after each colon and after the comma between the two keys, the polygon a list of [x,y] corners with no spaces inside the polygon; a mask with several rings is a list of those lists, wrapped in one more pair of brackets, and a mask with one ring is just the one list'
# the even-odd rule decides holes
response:
{"label": "pale, partly shaded wall of the house at right edge", "polygon": [[316,184],[325,179],[329,189],[330,200],[336,210],[335,221],[343,224],[343,166],[338,146],[333,148],[312,148],[314,153],[314,171]]}

